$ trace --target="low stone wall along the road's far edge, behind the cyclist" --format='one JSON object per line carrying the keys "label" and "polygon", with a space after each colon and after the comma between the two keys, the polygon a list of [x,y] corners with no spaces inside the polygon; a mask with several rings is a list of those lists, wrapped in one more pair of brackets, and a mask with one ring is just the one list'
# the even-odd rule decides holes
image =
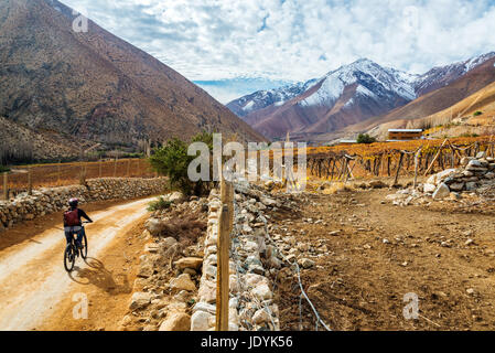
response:
{"label": "low stone wall along the road's far edge, behind the cyclist", "polygon": [[71,197],[82,203],[104,200],[131,200],[163,192],[166,179],[104,178],[88,180],[86,185],[34,190],[32,195],[19,194],[0,201],[0,231],[67,207]]}

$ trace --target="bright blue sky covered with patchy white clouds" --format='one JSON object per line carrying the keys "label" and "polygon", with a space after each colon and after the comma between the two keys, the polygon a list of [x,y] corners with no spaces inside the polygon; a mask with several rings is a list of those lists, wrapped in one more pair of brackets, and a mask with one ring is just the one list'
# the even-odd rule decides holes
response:
{"label": "bright blue sky covered with patchy white clouds", "polygon": [[495,0],[62,0],[222,103],[368,57],[423,73],[495,51]]}

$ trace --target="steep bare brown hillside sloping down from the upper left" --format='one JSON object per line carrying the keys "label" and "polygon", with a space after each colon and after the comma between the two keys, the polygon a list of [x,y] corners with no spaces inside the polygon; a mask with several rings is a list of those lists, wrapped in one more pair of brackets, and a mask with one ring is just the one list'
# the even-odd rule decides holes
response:
{"label": "steep bare brown hillside sloping down from the upper left", "polygon": [[263,138],[179,73],[55,0],[0,2],[0,116],[106,146],[201,130]]}

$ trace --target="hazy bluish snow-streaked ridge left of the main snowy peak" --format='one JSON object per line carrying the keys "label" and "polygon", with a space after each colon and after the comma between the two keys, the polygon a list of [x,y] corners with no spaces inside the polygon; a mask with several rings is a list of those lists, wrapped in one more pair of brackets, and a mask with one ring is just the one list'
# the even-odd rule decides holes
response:
{"label": "hazy bluish snow-streaked ridge left of the main snowy peak", "polygon": [[258,90],[230,101],[227,104],[227,107],[237,116],[245,117],[251,111],[260,110],[271,105],[281,106],[286,101],[303,94],[316,83],[318,79],[310,79],[305,83],[297,83],[270,90]]}

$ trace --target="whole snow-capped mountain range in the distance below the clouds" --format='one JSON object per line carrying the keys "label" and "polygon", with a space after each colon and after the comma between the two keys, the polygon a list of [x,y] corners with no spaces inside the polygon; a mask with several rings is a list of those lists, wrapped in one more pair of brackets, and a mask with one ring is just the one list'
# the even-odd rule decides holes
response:
{"label": "whole snow-capped mountain range in the distance below the clouds", "polygon": [[[362,58],[319,79],[257,92],[227,105],[269,138],[326,133],[384,116],[450,85],[486,61],[488,53],[465,62],[409,74]],[[407,117],[406,117],[407,118]]]}

